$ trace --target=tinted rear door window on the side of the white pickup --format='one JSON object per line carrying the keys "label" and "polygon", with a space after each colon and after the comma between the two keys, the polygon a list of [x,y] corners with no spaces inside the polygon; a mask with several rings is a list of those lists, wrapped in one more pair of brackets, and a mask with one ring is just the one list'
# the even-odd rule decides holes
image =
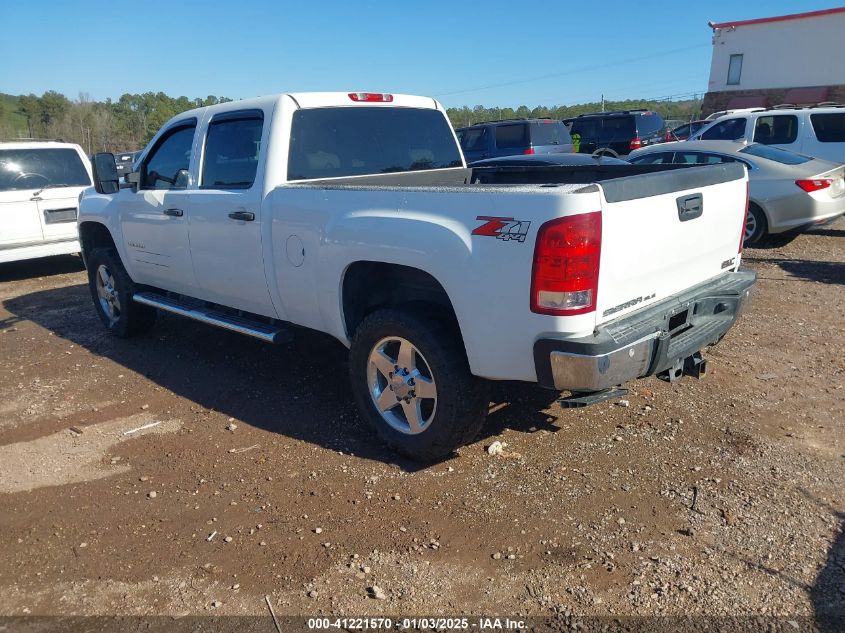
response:
{"label": "tinted rear door window on the side of the white pickup", "polygon": [[246,189],[255,182],[264,114],[233,112],[212,119],[205,137],[202,188]]}

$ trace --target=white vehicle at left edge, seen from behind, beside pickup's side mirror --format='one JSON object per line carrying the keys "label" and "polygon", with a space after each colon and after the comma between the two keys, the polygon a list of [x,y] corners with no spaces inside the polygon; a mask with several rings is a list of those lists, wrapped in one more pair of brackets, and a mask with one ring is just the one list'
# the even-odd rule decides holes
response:
{"label": "white vehicle at left edge, seen from behind, beside pickup's side mirror", "polygon": [[79,145],[0,143],[0,262],[78,253],[79,194],[90,186]]}

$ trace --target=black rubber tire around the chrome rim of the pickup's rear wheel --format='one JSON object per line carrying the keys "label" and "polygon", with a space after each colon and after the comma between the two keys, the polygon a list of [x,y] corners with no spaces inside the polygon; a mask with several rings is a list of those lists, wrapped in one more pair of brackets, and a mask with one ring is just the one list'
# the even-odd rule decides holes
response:
{"label": "black rubber tire around the chrome rim of the pickup's rear wheel", "polygon": [[[370,352],[387,337],[404,338],[416,347],[437,385],[433,418],[414,435],[393,428],[370,395]],[[410,309],[370,314],[352,340],[349,375],[364,419],[390,447],[414,461],[432,462],[451,455],[472,441],[487,419],[490,385],[470,373],[461,338],[445,319],[423,318]]]}

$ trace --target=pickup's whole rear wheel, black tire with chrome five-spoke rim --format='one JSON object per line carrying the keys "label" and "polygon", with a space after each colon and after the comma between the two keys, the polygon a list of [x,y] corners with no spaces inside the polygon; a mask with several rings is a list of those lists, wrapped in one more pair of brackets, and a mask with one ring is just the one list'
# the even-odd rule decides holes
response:
{"label": "pickup's whole rear wheel, black tire with chrome five-spoke rim", "polygon": [[369,315],[355,332],[349,371],[363,417],[411,459],[450,455],[487,418],[489,386],[470,373],[445,321],[396,309]]}

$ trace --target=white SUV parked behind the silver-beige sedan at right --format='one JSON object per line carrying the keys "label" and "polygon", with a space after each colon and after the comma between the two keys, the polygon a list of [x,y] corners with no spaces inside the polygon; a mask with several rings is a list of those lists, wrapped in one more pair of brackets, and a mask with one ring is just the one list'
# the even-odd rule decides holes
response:
{"label": "white SUV parked behind the silver-beige sedan at right", "polygon": [[845,106],[746,110],[716,119],[689,140],[762,143],[845,163]]}

